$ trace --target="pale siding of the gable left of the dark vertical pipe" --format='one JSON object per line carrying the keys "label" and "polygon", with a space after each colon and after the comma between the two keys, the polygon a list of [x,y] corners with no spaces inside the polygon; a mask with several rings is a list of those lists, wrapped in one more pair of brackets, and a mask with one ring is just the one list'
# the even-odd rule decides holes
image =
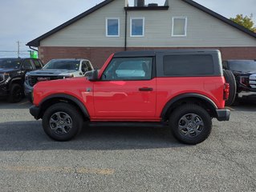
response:
{"label": "pale siding of the gable left of the dark vertical pipe", "polygon": [[[119,38],[106,36],[106,18],[120,19]],[[123,47],[124,23],[124,0],[116,0],[45,38],[40,46]]]}

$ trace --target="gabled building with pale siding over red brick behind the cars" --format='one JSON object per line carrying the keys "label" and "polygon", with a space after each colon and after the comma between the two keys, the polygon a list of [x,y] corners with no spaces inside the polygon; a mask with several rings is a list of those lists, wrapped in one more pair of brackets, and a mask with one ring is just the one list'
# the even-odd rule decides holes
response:
{"label": "gabled building with pale siding over red brick behind the cars", "polygon": [[27,43],[51,58],[88,58],[100,68],[122,50],[213,48],[223,59],[255,59],[256,34],[192,0],[105,0]]}

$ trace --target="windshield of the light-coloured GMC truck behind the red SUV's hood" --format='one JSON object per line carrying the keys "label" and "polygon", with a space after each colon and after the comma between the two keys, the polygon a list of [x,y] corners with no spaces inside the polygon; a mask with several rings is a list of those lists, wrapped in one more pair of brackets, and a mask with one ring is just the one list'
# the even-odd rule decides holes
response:
{"label": "windshield of the light-coloured GMC truck behind the red SUV's hood", "polygon": [[51,60],[43,66],[43,70],[79,70],[79,61],[76,60]]}

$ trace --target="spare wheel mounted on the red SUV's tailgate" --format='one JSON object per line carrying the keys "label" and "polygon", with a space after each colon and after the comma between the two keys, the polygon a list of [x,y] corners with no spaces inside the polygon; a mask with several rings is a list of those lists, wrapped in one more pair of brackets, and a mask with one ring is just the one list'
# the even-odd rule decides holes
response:
{"label": "spare wheel mounted on the red SUV's tailgate", "polygon": [[223,70],[223,75],[226,80],[230,84],[230,95],[228,100],[226,100],[226,106],[231,106],[234,103],[234,99],[237,94],[237,83],[234,77],[234,74],[230,70]]}

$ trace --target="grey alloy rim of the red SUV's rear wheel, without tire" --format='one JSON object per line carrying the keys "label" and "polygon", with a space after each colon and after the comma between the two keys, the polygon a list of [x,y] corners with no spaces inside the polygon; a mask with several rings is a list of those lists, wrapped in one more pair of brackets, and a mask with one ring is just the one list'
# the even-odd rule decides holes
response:
{"label": "grey alloy rim of the red SUV's rear wheel, without tire", "polygon": [[197,137],[204,130],[204,122],[197,114],[185,114],[178,122],[178,129],[186,137]]}

